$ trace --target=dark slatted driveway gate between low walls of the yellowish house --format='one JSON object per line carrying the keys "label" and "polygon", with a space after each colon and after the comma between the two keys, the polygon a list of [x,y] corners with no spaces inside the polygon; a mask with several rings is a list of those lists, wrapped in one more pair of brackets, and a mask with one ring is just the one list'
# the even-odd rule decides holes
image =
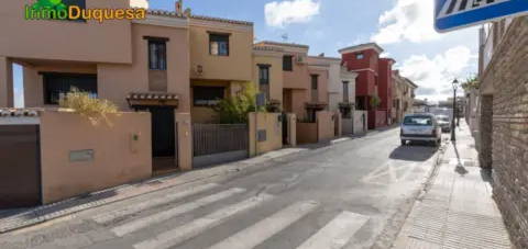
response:
{"label": "dark slatted driveway gate between low walls of the yellowish house", "polygon": [[209,166],[248,157],[248,124],[194,124],[194,166]]}

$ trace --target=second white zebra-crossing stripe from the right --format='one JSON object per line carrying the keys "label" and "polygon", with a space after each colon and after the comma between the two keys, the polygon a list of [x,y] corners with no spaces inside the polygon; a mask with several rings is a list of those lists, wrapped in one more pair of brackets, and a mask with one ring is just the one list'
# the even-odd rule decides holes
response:
{"label": "second white zebra-crossing stripe from the right", "polygon": [[316,202],[295,203],[212,246],[210,249],[254,248],[284,228],[299,220],[305,215],[315,211],[318,206],[319,204]]}

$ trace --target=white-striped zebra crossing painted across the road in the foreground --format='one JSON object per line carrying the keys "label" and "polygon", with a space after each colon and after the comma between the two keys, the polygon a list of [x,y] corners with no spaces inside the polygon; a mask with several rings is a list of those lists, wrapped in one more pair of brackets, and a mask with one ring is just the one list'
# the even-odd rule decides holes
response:
{"label": "white-striped zebra crossing painted across the road in the foreground", "polygon": [[[210,190],[215,190],[212,191],[213,193],[206,193]],[[147,230],[168,219],[177,219],[179,216],[198,208],[218,204],[230,197],[239,200],[233,204],[221,206],[212,213],[194,217],[194,219],[184,224],[178,224],[176,227],[164,229],[160,234],[148,235],[148,238],[144,238],[143,240],[133,244],[133,248],[135,249],[173,248],[206,234],[208,230],[237,218],[237,216],[243,215],[244,213],[248,214],[253,210],[262,207],[265,203],[271,203],[277,197],[267,193],[246,196],[249,193],[248,193],[248,191],[241,188],[222,190],[219,184],[206,184],[165,196],[158,196],[134,206],[127,206],[121,210],[99,214],[94,216],[92,220],[101,225],[109,225],[109,222],[119,219],[121,222],[118,222],[116,226],[109,225],[113,226],[109,228],[109,230],[113,234],[116,239],[125,238],[125,236],[128,238],[132,236],[133,238],[134,233]],[[194,195],[205,196],[198,196],[196,200],[182,202],[184,199]],[[145,214],[142,217],[131,216],[136,212],[145,212],[150,208],[157,208],[162,205],[168,206],[168,204],[176,205],[170,205],[170,207],[165,207],[165,210],[153,214]],[[308,217],[309,215],[316,215],[315,211],[322,207],[321,203],[310,200],[290,203],[286,205],[286,207],[274,211],[274,213],[270,215],[266,214],[267,217],[256,220],[248,227],[242,227],[240,231],[228,235],[226,238],[222,238],[220,241],[208,247],[210,249],[255,248],[273,236],[286,231],[288,227],[300,219]],[[323,225],[319,230],[314,230],[311,236],[308,236],[297,248],[343,248],[352,239],[355,233],[367,222],[367,216],[343,211],[336,214],[331,220]]]}

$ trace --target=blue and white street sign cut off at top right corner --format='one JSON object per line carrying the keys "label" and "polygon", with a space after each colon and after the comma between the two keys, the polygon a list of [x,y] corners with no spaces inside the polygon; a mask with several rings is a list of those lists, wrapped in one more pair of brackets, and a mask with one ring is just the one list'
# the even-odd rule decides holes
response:
{"label": "blue and white street sign cut off at top right corner", "polygon": [[528,13],[528,0],[435,0],[435,29],[453,31]]}

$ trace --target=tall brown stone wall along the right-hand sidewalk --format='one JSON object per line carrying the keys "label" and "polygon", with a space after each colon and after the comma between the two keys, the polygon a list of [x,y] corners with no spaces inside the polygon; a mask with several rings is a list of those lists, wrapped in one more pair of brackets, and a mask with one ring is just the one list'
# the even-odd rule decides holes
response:
{"label": "tall brown stone wall along the right-hand sidewalk", "polygon": [[528,248],[528,16],[510,24],[481,81],[494,89],[493,100],[483,99],[481,122],[486,146],[485,105],[492,102],[494,197],[513,242]]}

